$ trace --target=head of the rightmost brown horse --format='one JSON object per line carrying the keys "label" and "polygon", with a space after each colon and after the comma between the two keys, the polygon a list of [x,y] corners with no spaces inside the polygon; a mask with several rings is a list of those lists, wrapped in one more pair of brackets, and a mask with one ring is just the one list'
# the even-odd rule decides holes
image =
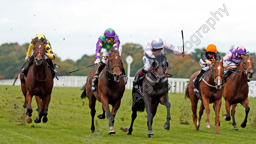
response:
{"label": "head of the rightmost brown horse", "polygon": [[249,78],[252,78],[252,76],[253,76],[252,56],[247,57],[247,56],[241,55],[241,57],[243,59],[243,61],[242,61],[243,70],[245,70],[245,72]]}

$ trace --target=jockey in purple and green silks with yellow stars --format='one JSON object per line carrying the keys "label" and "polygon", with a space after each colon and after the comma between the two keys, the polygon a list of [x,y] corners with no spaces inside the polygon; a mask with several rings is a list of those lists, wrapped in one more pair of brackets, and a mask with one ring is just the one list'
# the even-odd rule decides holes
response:
{"label": "jockey in purple and green silks with yellow stars", "polygon": [[[105,32],[99,37],[98,42],[96,43],[96,54],[95,54],[95,64],[97,63],[99,65],[100,62],[100,53],[101,51],[103,52],[102,55],[102,62],[104,63],[104,65],[106,64],[107,60],[105,60],[105,57],[108,56],[109,54],[109,50],[111,48],[114,48],[115,50],[117,50],[119,52],[119,55],[121,56],[121,52],[122,52],[122,46],[120,45],[120,41],[118,38],[118,35],[116,34],[116,32],[114,31],[114,29],[112,28],[108,28],[105,30]],[[99,66],[100,67],[100,66]],[[92,87],[91,87],[91,91],[94,92],[96,91],[95,89],[95,83],[98,81],[98,77],[99,74],[101,72],[101,70],[99,70],[99,67],[92,79]],[[123,67],[123,62],[121,61],[121,72],[122,72],[122,76],[123,76],[123,80],[125,82],[125,84],[127,83],[127,76],[125,75],[125,69]]]}

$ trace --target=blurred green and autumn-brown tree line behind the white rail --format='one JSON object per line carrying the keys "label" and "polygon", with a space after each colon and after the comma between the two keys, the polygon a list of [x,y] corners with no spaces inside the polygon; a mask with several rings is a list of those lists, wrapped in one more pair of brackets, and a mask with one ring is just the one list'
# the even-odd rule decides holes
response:
{"label": "blurred green and autumn-brown tree line behind the white rail", "polygon": [[[25,57],[27,53],[29,43],[24,45],[19,45],[17,43],[2,44],[0,46],[0,79],[15,79],[21,66],[25,62]],[[143,67],[142,57],[144,56],[144,49],[141,45],[126,43],[122,45],[122,62],[125,69],[127,70],[127,63],[125,61],[128,55],[133,57],[133,63],[131,64],[130,76],[134,76],[135,73]],[[231,47],[232,48],[232,47]],[[168,73],[172,74],[174,78],[190,78],[190,76],[201,69],[199,65],[199,59],[201,58],[201,52],[204,48],[196,48],[190,54],[186,54],[185,57],[177,59],[174,57],[172,52],[167,51],[166,58],[169,60]],[[94,64],[95,55],[83,55],[81,59],[73,61],[70,59],[62,61],[58,59],[58,52],[54,52],[57,56],[55,62],[57,63],[59,69],[57,70],[57,76],[61,75],[88,75],[92,67],[82,69],[70,73],[73,70],[83,68],[87,65]],[[224,57],[226,53],[220,53],[221,57]],[[250,53],[253,56],[253,61],[256,62],[255,53]],[[102,57],[102,53],[101,56]],[[256,78],[252,78],[256,80]]]}

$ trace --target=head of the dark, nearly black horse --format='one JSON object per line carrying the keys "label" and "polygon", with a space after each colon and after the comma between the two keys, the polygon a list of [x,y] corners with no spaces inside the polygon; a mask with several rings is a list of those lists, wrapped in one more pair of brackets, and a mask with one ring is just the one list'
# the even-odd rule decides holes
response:
{"label": "head of the dark, nearly black horse", "polygon": [[162,54],[162,53],[157,54],[157,53],[153,52],[153,54],[155,55],[155,60],[152,63],[151,71],[153,73],[155,73],[157,82],[162,82],[162,80],[166,76],[167,67],[168,67],[168,62],[165,57],[166,52],[164,54]]}

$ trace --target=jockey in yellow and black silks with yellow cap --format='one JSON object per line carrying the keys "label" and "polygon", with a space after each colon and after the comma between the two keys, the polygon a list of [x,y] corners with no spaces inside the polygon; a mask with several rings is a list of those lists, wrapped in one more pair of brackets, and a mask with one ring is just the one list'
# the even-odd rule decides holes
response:
{"label": "jockey in yellow and black silks with yellow cap", "polygon": [[[34,40],[36,42],[43,42],[45,39],[44,35],[39,33],[35,36]],[[44,43],[44,46],[45,46],[45,55],[48,57],[47,61],[48,61],[48,65],[50,66],[51,68],[51,72],[52,72],[52,77],[54,78],[54,75],[57,73],[55,71],[55,67],[53,65],[53,62],[52,62],[52,59],[55,59],[56,56],[54,55],[54,53],[52,52],[52,49],[51,49],[51,44],[50,42],[46,39],[45,43]],[[27,51],[27,56],[25,58],[25,64],[24,64],[24,68],[21,70],[21,72],[23,73],[23,75],[25,77],[27,77],[27,73],[28,73],[28,69],[29,67],[34,63],[34,54],[31,55],[31,51],[33,50],[33,47],[34,47],[34,43],[32,42],[31,40],[31,43],[28,47],[28,51]],[[31,55],[31,56],[30,56]]]}

